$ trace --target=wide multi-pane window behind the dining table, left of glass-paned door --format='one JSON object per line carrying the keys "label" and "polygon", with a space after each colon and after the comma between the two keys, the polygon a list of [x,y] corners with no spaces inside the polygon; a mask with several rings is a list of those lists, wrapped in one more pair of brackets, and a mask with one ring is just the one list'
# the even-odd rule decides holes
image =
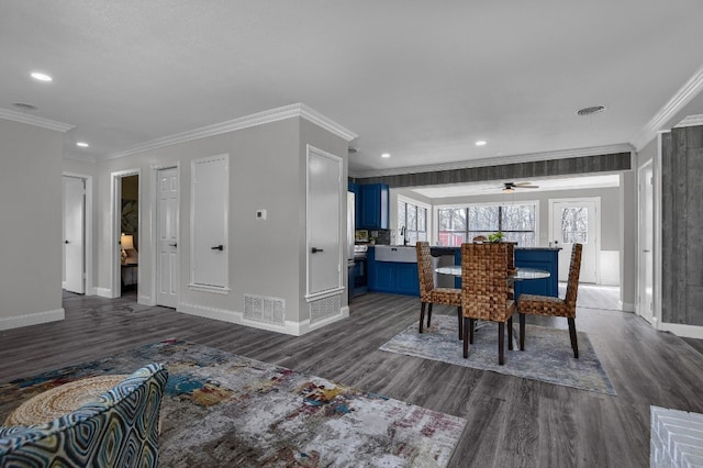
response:
{"label": "wide multi-pane window behind the dining table, left of glass-paned door", "polygon": [[535,204],[472,205],[440,208],[438,215],[438,244],[459,246],[478,235],[488,236],[501,231],[505,241],[523,247],[536,245]]}

